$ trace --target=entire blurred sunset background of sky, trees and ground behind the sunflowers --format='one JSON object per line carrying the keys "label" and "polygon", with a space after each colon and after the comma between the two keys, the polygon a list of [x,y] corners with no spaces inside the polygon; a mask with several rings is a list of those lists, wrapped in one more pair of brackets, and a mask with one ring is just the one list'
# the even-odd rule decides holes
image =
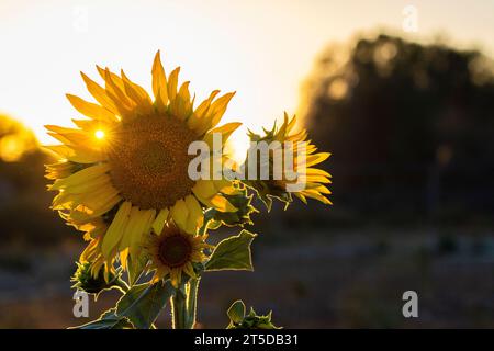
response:
{"label": "entire blurred sunset background of sky, trees and ground behind the sunflowers", "polygon": [[489,0],[1,0],[0,328],[80,325],[117,298],[72,316],[83,242],[48,208],[40,145],[77,117],[65,93],[88,98],[80,70],[149,88],[157,49],[198,99],[237,91],[237,155],[284,110],[333,154],[334,206],[257,204],[256,272],[204,276],[202,327],[237,298],[287,328],[494,327],[492,37]]}

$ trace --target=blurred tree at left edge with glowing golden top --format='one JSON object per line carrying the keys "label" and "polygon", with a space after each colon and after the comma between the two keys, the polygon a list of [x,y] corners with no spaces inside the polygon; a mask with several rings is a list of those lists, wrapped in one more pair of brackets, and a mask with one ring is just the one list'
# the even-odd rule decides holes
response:
{"label": "blurred tree at left edge with glowing golden top", "polygon": [[49,210],[44,163],[50,162],[36,137],[21,123],[0,115],[0,248],[49,246],[71,229]]}

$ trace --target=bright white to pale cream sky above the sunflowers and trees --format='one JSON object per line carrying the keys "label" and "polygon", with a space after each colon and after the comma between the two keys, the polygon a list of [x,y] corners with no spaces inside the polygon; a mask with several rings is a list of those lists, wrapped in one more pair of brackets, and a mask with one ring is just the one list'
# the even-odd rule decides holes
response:
{"label": "bright white to pale cream sky above the sunflowers and trees", "polygon": [[43,125],[78,116],[65,93],[89,98],[80,70],[124,68],[150,91],[161,49],[167,72],[181,66],[198,99],[237,91],[225,121],[259,129],[296,112],[324,45],[377,27],[402,33],[407,4],[418,10],[419,38],[446,33],[494,53],[493,0],[0,0],[0,113],[50,141]]}

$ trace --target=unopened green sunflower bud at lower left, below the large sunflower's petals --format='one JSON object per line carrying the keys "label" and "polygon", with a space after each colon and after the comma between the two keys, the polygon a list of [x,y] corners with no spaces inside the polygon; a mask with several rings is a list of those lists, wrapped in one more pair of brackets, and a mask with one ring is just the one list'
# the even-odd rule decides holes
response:
{"label": "unopened green sunflower bud at lower left, below the large sunflower's petals", "polygon": [[88,294],[93,294],[96,297],[106,290],[121,288],[121,272],[106,272],[103,274],[104,267],[101,267],[98,274],[92,274],[90,262],[76,262],[77,270],[71,276],[70,281],[74,282],[72,287],[81,290]]}

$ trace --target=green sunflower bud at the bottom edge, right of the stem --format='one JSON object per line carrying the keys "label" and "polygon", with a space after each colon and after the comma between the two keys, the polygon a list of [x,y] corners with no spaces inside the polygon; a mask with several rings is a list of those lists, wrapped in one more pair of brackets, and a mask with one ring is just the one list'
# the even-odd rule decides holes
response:
{"label": "green sunflower bud at the bottom edge, right of the stem", "polygon": [[266,316],[258,316],[252,307],[245,315],[245,304],[238,299],[232,304],[227,313],[229,325],[227,329],[281,329],[271,322],[271,312]]}

